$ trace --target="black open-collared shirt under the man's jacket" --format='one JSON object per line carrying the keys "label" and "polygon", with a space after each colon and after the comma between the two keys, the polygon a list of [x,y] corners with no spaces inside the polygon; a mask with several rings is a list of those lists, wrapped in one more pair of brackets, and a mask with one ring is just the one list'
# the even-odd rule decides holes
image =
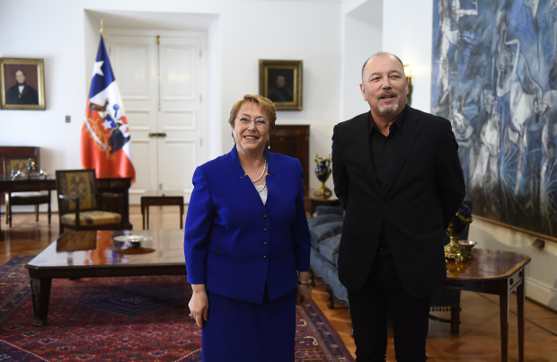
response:
{"label": "black open-collared shirt under the man's jacket", "polygon": [[[393,181],[393,155],[396,152],[398,143],[401,142],[405,117],[406,108],[402,110],[401,114],[399,114],[391,127],[389,127],[388,136],[381,133],[373,118],[370,117],[369,155],[371,157],[374,174],[381,187],[381,194],[383,196],[385,196]],[[379,248],[389,249],[389,238],[385,232],[385,222],[381,226],[381,232],[379,234]]]}

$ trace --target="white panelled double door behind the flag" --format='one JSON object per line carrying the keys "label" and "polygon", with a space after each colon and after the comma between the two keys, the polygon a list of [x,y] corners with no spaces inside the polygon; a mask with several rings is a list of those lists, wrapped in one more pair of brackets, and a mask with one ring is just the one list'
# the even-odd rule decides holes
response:
{"label": "white panelled double door behind the flag", "polygon": [[106,43],[136,169],[130,204],[152,190],[183,194],[189,202],[191,177],[206,159],[205,34],[119,32]]}

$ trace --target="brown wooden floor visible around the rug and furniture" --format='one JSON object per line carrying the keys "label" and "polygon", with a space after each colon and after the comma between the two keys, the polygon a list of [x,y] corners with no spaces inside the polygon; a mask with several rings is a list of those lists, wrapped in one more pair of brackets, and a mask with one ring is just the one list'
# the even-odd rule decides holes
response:
{"label": "brown wooden floor visible around the rug and furniture", "polygon": [[[178,207],[151,207],[150,228],[178,229],[180,216]],[[2,214],[4,241],[0,242],[0,265],[19,254],[37,254],[46,248],[58,235],[57,214],[48,225],[46,214],[40,214],[39,223],[32,214],[16,214],[13,227],[5,225]],[[130,222],[141,228],[139,207],[130,207]],[[323,285],[314,287],[314,301],[323,310],[344,343],[354,354],[355,346],[350,337],[349,313],[342,306],[327,307],[327,293]],[[497,361],[500,360],[500,318],[496,296],[463,292],[460,334],[452,336],[449,325],[429,322],[429,361]],[[444,313],[437,313],[446,317]],[[525,360],[557,362],[557,313],[540,305],[526,301],[526,354]],[[516,298],[511,297],[509,326],[509,361],[517,361],[517,314]],[[393,339],[390,336],[387,360],[394,361]]]}

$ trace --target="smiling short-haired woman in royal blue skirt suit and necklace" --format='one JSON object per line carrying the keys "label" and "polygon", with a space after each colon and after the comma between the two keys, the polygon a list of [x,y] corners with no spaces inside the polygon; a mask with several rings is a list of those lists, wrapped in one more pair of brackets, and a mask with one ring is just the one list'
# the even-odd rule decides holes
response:
{"label": "smiling short-haired woman in royal blue skirt suit and necklace", "polygon": [[203,361],[294,361],[296,304],[311,297],[302,166],[272,153],[275,107],[236,102],[234,147],[193,174],[184,253]]}

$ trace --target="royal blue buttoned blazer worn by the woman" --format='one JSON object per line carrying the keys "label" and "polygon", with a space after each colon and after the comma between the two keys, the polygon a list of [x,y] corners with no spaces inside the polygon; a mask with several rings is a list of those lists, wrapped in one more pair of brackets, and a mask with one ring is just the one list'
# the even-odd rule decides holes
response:
{"label": "royal blue buttoned blazer worn by the woman", "polygon": [[309,270],[310,234],[302,166],[265,150],[269,194],[263,205],[244,175],[236,147],[200,165],[186,216],[188,281],[208,291],[261,303],[296,287],[296,271]]}

